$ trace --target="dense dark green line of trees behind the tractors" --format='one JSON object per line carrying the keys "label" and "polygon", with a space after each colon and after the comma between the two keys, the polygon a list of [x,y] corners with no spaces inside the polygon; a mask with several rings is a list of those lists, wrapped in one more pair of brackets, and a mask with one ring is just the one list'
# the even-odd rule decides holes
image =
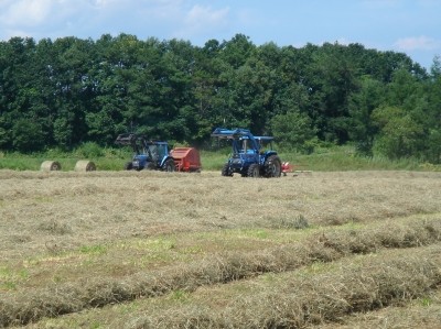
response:
{"label": "dense dark green line of trees behind the tractors", "polygon": [[441,161],[441,62],[325,43],[182,40],[0,42],[0,150],[112,145],[123,132],[203,146],[215,127],[275,135],[286,150]]}

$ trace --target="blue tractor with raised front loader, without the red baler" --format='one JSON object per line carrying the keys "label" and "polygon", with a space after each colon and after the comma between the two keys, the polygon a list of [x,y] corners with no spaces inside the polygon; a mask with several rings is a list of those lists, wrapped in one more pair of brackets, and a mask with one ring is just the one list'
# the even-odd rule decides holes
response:
{"label": "blue tractor with raised front loader, without the red baler", "polygon": [[280,177],[282,163],[272,151],[271,136],[255,136],[247,129],[216,128],[213,138],[232,141],[233,153],[222,168],[223,176]]}

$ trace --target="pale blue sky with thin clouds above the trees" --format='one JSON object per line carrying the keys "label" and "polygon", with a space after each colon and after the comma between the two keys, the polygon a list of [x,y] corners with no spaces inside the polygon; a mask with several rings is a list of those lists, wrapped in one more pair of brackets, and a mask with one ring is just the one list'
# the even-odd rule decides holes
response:
{"label": "pale blue sky with thin clouds above the trees", "polygon": [[361,43],[430,68],[440,17],[441,0],[0,0],[0,40],[127,33],[202,46],[241,33],[256,45]]}

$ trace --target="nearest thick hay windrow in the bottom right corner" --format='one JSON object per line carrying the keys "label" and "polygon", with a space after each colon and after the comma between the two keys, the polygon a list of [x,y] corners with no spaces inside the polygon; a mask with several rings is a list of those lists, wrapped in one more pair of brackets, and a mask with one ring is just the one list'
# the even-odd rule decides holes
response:
{"label": "nearest thick hay windrow in the bottom right corner", "polygon": [[[440,252],[437,245],[410,256],[401,250],[364,257],[358,264],[345,263],[332,272],[258,284],[224,307],[213,307],[208,301],[206,306],[179,305],[154,314],[139,311],[139,317],[132,315],[135,320],[121,323],[121,328],[314,328],[322,323],[338,328],[348,315],[404,306],[437,289],[441,284]],[[383,328],[428,328],[424,319],[420,320],[409,327]],[[438,321],[432,328],[440,325]]]}

